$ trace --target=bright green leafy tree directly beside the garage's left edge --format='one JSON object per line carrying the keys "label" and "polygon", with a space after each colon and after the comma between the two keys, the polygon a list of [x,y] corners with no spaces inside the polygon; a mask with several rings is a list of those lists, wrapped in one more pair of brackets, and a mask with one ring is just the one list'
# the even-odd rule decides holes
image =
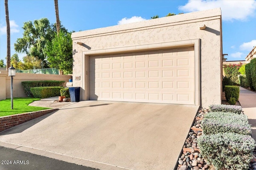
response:
{"label": "bright green leafy tree directly beside the garage's left edge", "polygon": [[64,71],[65,74],[72,73],[72,39],[70,32],[60,31],[59,35],[55,34],[52,42],[46,45],[47,59],[51,67],[56,67]]}

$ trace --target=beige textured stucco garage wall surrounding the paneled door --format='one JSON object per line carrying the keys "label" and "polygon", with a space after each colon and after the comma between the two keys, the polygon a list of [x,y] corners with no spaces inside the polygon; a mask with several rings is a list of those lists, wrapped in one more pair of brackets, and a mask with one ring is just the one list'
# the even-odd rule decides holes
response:
{"label": "beige textured stucco garage wall surrounding the paneled door", "polygon": [[[204,30],[199,27],[206,25]],[[132,24],[99,28],[72,33],[73,40],[73,86],[88,88],[83,77],[86,76],[87,64],[85,55],[117,53],[154,49],[161,44],[169,43],[175,46],[178,42],[199,40],[201,77],[200,101],[202,107],[221,103],[222,79],[222,32],[220,8],[192,12],[154,20],[146,20]],[[76,42],[83,43],[82,45]],[[186,43],[187,44],[187,43]],[[136,47],[140,47],[136,48]],[[178,46],[177,46],[178,47]],[[195,47],[196,49],[196,47]],[[80,80],[75,80],[80,76]]]}

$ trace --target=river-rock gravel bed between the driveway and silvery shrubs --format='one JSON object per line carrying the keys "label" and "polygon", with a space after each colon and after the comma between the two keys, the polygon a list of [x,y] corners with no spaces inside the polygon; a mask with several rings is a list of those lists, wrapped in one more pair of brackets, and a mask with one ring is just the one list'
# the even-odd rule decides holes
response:
{"label": "river-rock gravel bed between the driveway and silvery shrubs", "polygon": [[[215,170],[214,167],[207,162],[202,154],[200,154],[197,139],[202,135],[201,121],[204,114],[209,112],[208,109],[200,109],[192,125],[192,129],[188,133],[188,138],[182,148],[182,154],[177,161],[177,170]],[[248,170],[256,170],[256,149],[253,152],[253,158],[249,164]]]}

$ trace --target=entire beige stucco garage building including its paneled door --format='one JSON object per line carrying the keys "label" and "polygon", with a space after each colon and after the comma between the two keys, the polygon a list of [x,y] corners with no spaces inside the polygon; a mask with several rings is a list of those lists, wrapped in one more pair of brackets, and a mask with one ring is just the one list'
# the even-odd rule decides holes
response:
{"label": "entire beige stucco garage building including its paneled door", "polygon": [[80,100],[221,104],[220,8],[72,33]]}

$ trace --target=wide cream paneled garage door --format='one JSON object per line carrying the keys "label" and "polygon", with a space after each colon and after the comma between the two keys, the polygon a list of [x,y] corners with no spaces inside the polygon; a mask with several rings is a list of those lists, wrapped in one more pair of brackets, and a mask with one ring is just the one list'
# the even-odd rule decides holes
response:
{"label": "wide cream paneled garage door", "polygon": [[194,62],[194,47],[90,56],[90,100],[194,105]]}

